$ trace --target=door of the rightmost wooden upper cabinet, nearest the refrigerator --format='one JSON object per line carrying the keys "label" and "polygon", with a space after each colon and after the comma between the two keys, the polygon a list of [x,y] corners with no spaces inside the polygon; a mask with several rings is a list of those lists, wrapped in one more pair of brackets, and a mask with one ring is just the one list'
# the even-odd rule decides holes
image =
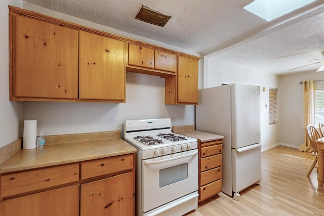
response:
{"label": "door of the rightmost wooden upper cabinet, nearest the refrigerator", "polygon": [[198,60],[178,57],[177,103],[198,103]]}

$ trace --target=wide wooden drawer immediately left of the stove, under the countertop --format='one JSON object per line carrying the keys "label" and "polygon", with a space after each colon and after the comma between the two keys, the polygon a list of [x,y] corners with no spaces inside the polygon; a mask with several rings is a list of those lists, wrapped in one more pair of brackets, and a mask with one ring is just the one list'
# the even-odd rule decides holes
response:
{"label": "wide wooden drawer immediately left of the stove, under the countertop", "polygon": [[133,169],[133,154],[81,162],[81,179]]}

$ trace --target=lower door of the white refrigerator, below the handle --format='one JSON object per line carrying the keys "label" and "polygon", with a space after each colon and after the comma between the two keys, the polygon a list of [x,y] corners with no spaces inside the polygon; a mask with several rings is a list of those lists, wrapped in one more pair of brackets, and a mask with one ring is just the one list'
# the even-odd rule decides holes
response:
{"label": "lower door of the white refrigerator, below the handle", "polygon": [[[238,193],[261,180],[261,145],[250,150],[232,149],[233,192]],[[244,148],[244,147],[243,147]]]}

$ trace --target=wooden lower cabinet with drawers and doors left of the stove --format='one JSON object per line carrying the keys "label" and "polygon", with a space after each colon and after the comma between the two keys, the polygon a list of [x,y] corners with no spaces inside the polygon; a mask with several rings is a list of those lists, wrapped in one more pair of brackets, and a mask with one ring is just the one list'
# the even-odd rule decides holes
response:
{"label": "wooden lower cabinet with drawers and doors left of the stove", "polygon": [[0,216],[135,214],[135,154],[0,175]]}

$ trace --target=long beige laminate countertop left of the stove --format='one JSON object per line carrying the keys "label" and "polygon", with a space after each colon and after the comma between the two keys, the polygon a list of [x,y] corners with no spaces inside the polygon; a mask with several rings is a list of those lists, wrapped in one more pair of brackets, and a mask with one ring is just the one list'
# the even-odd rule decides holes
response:
{"label": "long beige laminate countertop left of the stove", "polygon": [[27,150],[21,149],[0,164],[0,174],[134,152],[136,152],[136,148],[121,138],[46,145],[42,148]]}

